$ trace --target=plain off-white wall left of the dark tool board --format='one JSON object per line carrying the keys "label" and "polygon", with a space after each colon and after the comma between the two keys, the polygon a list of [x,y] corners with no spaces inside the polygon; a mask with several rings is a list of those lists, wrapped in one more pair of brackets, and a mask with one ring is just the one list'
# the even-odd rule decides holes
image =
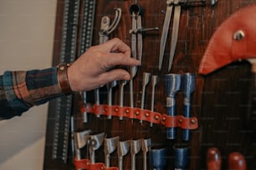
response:
{"label": "plain off-white wall left of the dark tool board", "polygon": [[[57,0],[0,0],[0,74],[51,66],[56,5]],[[0,169],[43,169],[47,107],[0,121]]]}

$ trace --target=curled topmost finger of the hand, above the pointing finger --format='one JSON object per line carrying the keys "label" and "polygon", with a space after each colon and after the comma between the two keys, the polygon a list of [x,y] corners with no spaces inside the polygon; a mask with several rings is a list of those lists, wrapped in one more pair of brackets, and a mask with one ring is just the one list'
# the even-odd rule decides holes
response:
{"label": "curled topmost finger of the hand, above the pointing finger", "polygon": [[122,42],[119,38],[115,37],[103,44],[100,44],[100,48],[105,52],[122,52],[126,56],[131,57],[131,48]]}

